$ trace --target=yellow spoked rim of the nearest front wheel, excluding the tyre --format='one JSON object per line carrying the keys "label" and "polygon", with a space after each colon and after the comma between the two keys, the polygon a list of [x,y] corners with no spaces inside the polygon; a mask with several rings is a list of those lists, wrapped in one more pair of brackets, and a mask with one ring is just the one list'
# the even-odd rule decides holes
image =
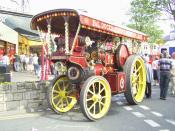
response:
{"label": "yellow spoked rim of the nearest front wheel, excluding the tyre", "polygon": [[86,93],[86,109],[94,119],[103,117],[109,110],[111,92],[109,84],[97,79],[89,83]]}

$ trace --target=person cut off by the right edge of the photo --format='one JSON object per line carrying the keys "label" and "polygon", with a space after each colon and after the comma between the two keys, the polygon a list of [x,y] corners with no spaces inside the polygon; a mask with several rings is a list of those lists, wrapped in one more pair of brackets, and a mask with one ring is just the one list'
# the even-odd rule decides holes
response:
{"label": "person cut off by the right edge of the photo", "polygon": [[172,69],[171,69],[171,78],[170,78],[170,94],[175,95],[175,52],[172,53]]}

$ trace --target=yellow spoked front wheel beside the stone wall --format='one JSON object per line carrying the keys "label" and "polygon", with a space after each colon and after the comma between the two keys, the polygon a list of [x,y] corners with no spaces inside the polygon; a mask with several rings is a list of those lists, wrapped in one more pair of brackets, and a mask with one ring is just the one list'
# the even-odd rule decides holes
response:
{"label": "yellow spoked front wheel beside the stone wall", "polygon": [[48,96],[52,109],[57,113],[67,112],[77,103],[76,94],[67,76],[60,76],[53,82]]}

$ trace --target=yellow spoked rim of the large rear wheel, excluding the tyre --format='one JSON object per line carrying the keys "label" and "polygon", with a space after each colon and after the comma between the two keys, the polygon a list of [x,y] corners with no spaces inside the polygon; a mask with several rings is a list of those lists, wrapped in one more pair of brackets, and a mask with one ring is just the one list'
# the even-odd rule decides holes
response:
{"label": "yellow spoked rim of the large rear wheel, excluding the tyre", "polygon": [[141,58],[136,59],[131,71],[132,94],[135,101],[141,102],[146,88],[146,69]]}

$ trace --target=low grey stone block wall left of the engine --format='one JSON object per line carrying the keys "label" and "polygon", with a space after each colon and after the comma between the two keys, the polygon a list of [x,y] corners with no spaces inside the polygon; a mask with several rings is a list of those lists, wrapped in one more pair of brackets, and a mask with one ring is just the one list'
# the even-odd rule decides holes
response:
{"label": "low grey stone block wall left of the engine", "polygon": [[36,112],[48,108],[46,92],[49,82],[18,82],[0,84],[0,114]]}

